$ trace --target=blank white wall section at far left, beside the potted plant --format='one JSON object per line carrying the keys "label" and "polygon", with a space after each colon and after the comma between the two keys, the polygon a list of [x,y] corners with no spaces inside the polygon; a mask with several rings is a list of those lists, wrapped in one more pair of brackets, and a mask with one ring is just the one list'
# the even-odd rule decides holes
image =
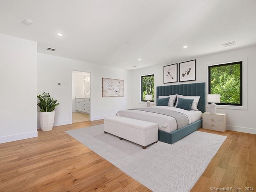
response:
{"label": "blank white wall section at far left, beside the potted plant", "polygon": [[0,34],[0,143],[37,137],[37,44]]}

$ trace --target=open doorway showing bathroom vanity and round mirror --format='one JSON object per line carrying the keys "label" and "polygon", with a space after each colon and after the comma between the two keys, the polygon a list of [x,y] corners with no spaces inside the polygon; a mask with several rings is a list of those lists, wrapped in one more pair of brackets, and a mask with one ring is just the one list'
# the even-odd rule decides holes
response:
{"label": "open doorway showing bathroom vanity and round mirror", "polygon": [[72,123],[90,120],[90,73],[72,70]]}

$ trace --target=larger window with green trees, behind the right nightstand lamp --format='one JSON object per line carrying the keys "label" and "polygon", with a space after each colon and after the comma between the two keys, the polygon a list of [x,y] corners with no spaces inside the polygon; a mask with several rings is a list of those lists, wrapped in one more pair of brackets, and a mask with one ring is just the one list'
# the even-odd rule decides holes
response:
{"label": "larger window with green trees, behind the right nightstand lamp", "polygon": [[220,105],[242,106],[242,61],[208,66],[208,92],[220,94]]}

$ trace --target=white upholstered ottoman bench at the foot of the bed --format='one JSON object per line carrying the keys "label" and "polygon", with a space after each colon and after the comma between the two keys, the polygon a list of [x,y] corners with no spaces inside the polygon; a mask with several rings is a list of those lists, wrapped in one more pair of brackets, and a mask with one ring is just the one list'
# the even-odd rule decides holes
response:
{"label": "white upholstered ottoman bench at the foot of the bed", "polygon": [[104,133],[146,146],[158,141],[158,124],[120,116],[104,119]]}

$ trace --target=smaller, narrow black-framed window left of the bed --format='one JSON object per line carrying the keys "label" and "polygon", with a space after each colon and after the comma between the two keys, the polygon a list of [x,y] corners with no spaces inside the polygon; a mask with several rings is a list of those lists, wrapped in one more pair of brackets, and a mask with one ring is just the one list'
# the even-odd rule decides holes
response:
{"label": "smaller, narrow black-framed window left of the bed", "polygon": [[141,101],[146,101],[145,95],[152,95],[154,101],[154,75],[141,76]]}

